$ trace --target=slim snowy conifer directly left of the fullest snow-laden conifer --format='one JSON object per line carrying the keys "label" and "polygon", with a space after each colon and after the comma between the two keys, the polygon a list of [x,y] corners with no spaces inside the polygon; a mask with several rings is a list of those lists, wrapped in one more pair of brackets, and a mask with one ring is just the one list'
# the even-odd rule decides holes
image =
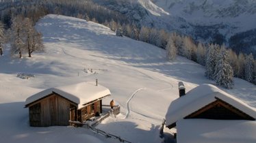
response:
{"label": "slim snowy conifer directly left of the fullest snow-laden conifer", "polygon": [[205,61],[205,76],[210,80],[214,80],[214,74],[217,63],[218,45],[210,44],[207,49],[207,57]]}

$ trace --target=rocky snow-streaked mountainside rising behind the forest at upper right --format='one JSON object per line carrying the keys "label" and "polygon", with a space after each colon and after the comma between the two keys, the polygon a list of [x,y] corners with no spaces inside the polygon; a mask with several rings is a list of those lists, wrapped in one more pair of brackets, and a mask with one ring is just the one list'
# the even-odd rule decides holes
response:
{"label": "rocky snow-streaked mountainside rising behind the forest at upper right", "polygon": [[[225,43],[229,46],[231,36],[256,29],[256,1],[253,0],[93,1],[114,7],[114,10],[133,18],[140,25],[177,31],[201,42]],[[249,45],[243,47],[247,48],[243,52],[254,49],[254,43],[243,38],[240,40]]]}

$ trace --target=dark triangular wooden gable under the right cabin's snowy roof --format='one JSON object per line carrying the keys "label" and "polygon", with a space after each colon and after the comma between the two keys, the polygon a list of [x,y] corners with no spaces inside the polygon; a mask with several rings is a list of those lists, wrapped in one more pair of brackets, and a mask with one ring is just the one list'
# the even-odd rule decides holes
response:
{"label": "dark triangular wooden gable under the right cabin's snowy roof", "polygon": [[216,97],[216,101],[208,104],[207,106],[185,116],[185,118],[206,118],[215,120],[251,120],[255,121],[255,118],[248,114],[238,110],[221,99]]}

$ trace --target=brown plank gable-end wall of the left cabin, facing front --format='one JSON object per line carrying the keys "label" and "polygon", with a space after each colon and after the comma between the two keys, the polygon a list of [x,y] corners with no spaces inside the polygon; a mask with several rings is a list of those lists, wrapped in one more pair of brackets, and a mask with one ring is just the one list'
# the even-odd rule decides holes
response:
{"label": "brown plank gable-end wall of the left cabin, facing front", "polygon": [[34,127],[69,125],[74,106],[77,105],[53,93],[29,106],[29,124]]}

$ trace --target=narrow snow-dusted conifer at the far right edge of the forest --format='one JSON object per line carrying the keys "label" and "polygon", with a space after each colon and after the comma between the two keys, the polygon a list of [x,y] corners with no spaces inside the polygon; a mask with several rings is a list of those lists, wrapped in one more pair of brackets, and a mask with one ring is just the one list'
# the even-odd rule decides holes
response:
{"label": "narrow snow-dusted conifer at the far right edge of the forest", "polygon": [[245,67],[244,67],[244,79],[248,82],[253,81],[253,54],[249,54],[245,59]]}

